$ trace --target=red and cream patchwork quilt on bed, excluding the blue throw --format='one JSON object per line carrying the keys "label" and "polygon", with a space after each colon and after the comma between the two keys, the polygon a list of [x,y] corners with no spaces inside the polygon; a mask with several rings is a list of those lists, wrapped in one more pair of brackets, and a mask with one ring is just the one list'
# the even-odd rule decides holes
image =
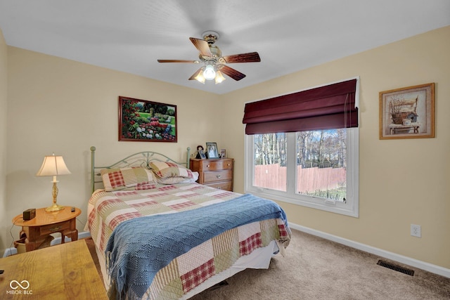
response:
{"label": "red and cream patchwork quilt on bed, excluding the blue throw", "polygon": [[[124,221],[170,214],[166,217],[173,216],[176,223],[176,214],[180,211],[207,207],[239,196],[198,183],[157,184],[148,190],[97,191],[89,200],[88,226],[96,246],[104,254],[115,228]],[[129,235],[134,234],[132,231]],[[179,299],[208,278],[232,266],[241,256],[266,247],[272,240],[282,244],[281,247],[286,247],[290,240],[290,230],[282,218],[264,219],[226,230],[161,268],[151,285],[146,287],[142,298]],[[113,280],[112,286],[116,283]],[[127,287],[119,288],[127,290]]]}

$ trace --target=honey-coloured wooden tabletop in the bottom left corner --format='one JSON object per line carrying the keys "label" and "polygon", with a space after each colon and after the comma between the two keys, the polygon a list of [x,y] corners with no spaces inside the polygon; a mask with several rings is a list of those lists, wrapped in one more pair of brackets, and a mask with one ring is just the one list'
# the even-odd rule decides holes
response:
{"label": "honey-coloured wooden tabletop in the bottom left corner", "polygon": [[0,259],[1,299],[108,299],[84,240]]}

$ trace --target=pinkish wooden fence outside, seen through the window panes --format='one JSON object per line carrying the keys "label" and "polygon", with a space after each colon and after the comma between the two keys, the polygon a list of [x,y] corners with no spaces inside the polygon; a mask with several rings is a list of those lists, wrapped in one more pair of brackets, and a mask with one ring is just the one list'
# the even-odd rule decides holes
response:
{"label": "pinkish wooden fence outside, seen through the window panes", "polygon": [[[345,185],[344,168],[305,168],[297,166],[297,191],[314,192],[332,190]],[[280,164],[263,164],[255,166],[255,186],[285,190],[286,167]]]}

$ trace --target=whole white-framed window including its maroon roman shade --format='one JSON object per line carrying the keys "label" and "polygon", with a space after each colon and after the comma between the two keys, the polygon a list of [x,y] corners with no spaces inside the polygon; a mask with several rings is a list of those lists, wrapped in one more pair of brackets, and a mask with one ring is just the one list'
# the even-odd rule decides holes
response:
{"label": "whole white-framed window including its maroon roman shade", "polygon": [[359,79],[245,105],[245,192],[359,216]]}

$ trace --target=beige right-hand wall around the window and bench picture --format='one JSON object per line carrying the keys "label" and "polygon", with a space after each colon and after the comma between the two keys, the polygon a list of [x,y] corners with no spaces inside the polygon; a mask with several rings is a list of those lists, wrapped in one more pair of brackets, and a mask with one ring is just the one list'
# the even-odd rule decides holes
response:
{"label": "beige right-hand wall around the window and bench picture", "polygon": [[[293,223],[450,268],[449,53],[444,27],[222,96],[221,141],[236,159],[236,191],[243,192],[246,102],[359,76],[359,219],[280,204]],[[430,82],[436,137],[380,140],[378,93]],[[411,223],[422,226],[421,238],[410,236]]]}

